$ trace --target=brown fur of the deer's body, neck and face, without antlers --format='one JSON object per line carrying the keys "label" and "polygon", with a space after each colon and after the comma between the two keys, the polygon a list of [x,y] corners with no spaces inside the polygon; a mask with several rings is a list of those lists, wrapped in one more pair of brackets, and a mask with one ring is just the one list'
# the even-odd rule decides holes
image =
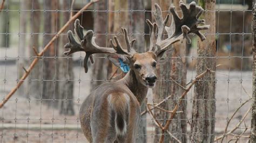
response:
{"label": "brown fur of the deer's body, neck and face, without antlers", "polygon": [[[140,105],[148,90],[144,78],[147,74],[154,74],[152,62],[155,60],[156,55],[152,52],[134,54],[130,60],[131,69],[124,78],[99,85],[85,99],[80,107],[79,118],[87,140],[90,142],[135,142]],[[142,65],[140,70],[133,68],[135,62]],[[127,127],[124,135],[116,133],[113,106],[123,115],[125,114],[123,118],[125,118]]]}

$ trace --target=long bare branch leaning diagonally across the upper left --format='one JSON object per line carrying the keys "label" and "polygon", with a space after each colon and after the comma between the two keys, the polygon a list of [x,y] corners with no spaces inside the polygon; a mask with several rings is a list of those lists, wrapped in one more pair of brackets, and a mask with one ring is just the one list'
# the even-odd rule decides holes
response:
{"label": "long bare branch leaning diagonally across the upper left", "polygon": [[[72,16],[69,21],[62,27],[60,28],[60,30],[58,31],[58,33],[49,41],[49,43],[43,48],[43,51],[41,51],[40,53],[38,53],[38,56],[41,57],[43,56],[43,53],[45,51],[48,50],[48,48],[52,45],[52,43],[59,37],[59,35],[64,32],[64,30],[66,28],[69,27],[70,23],[73,22],[73,20],[75,20],[76,18],[78,18],[78,16],[80,16],[82,14],[82,12],[84,10],[86,10],[87,8],[89,8],[90,5],[92,5],[93,3],[96,3],[98,1],[92,1],[88,4],[86,4],[82,9],[80,9],[76,15]],[[11,98],[12,95],[14,95],[14,93],[17,91],[17,89],[22,85],[22,83],[24,82],[24,80],[26,79],[26,77],[29,75],[30,71],[33,69],[33,67],[35,67],[35,65],[37,64],[39,57],[37,56],[37,58],[35,60],[32,61],[31,65],[29,66],[29,68],[26,70],[27,72],[25,72],[23,74],[23,76],[21,77],[21,79],[18,81],[16,87],[14,89],[12,89],[8,95],[6,95],[3,99],[3,102],[0,104],[0,108],[3,107],[3,105],[8,101],[8,99]]]}

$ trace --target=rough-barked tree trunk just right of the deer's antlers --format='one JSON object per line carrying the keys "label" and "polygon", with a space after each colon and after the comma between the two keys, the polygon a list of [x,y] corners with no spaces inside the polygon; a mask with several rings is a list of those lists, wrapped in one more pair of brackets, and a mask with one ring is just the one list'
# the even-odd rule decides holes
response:
{"label": "rough-barked tree trunk just right of the deer's antlers", "polygon": [[[211,27],[207,30],[206,40],[199,41],[197,50],[198,58],[196,71],[197,75],[203,73],[207,68],[216,70],[216,45],[215,45],[215,1],[200,0],[199,5],[204,7],[206,12],[203,17],[206,24]],[[207,73],[203,81],[194,86],[194,97],[192,104],[191,142],[213,142],[215,125],[215,73]]]}

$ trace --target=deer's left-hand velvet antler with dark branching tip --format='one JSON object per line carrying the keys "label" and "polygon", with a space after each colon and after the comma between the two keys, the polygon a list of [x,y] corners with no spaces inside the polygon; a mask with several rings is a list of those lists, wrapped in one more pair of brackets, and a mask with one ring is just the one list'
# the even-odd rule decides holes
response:
{"label": "deer's left-hand velvet antler with dark branching tip", "polygon": [[117,37],[114,37],[114,41],[116,42],[116,45],[113,43],[113,40],[110,40],[110,44],[112,48],[109,47],[100,47],[96,44],[95,39],[96,37],[94,36],[94,33],[92,30],[89,30],[86,32],[84,35],[83,33],[83,27],[79,23],[79,19],[76,19],[75,23],[75,34],[77,35],[78,40],[80,41],[80,44],[75,40],[73,37],[72,31],[68,31],[68,38],[69,38],[69,43],[66,44],[64,47],[68,49],[68,51],[65,51],[65,55],[70,55],[75,52],[85,52],[85,58],[84,58],[84,70],[85,73],[88,71],[88,60],[90,59],[91,62],[93,63],[93,54],[95,53],[112,53],[112,54],[124,54],[124,55],[133,55],[136,53],[136,51],[133,49],[133,44],[135,42],[135,39],[131,40],[129,39],[129,36],[127,34],[127,30],[125,28],[122,28],[122,32],[124,33],[124,38],[126,41],[126,46],[127,50],[123,49],[122,46],[120,45],[119,40]]}

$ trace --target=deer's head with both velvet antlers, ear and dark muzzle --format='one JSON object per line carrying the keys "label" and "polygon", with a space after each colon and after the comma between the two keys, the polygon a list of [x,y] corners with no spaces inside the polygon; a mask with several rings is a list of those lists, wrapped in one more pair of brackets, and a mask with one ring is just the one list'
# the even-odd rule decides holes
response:
{"label": "deer's head with both velvet antlers, ear and dark muzzle", "polygon": [[[100,47],[96,45],[93,31],[89,30],[86,34],[83,34],[83,27],[79,24],[79,20],[75,21],[75,33],[80,43],[78,43],[71,31],[68,31],[69,43],[65,45],[65,48],[69,49],[64,52],[65,55],[70,55],[75,52],[83,51],[86,53],[84,58],[85,73],[88,71],[87,62],[93,63],[92,55],[95,53],[108,53],[110,55],[107,58],[114,63],[114,65],[120,67],[120,60],[130,66],[134,71],[137,81],[146,87],[153,88],[157,80],[155,69],[157,61],[161,58],[165,51],[172,49],[171,46],[175,42],[186,39],[188,43],[191,42],[188,34],[194,33],[199,36],[203,41],[205,36],[201,34],[200,30],[207,30],[210,25],[204,25],[204,19],[198,19],[203,13],[204,9],[200,6],[196,6],[196,3],[190,3],[189,8],[183,2],[180,2],[179,6],[183,12],[183,17],[180,18],[175,11],[174,6],[169,9],[169,14],[163,19],[161,14],[161,8],[155,4],[156,11],[153,12],[156,23],[151,23],[149,19],[146,20],[150,27],[150,48],[145,53],[137,53],[133,44],[135,39],[130,40],[126,28],[122,28],[124,34],[126,47],[122,47],[117,37],[114,37],[114,42],[111,39],[110,47]],[[172,15],[172,22],[170,26],[166,26],[170,15]],[[200,25],[200,26],[199,26]],[[164,33],[167,32],[167,38],[164,38]]]}

